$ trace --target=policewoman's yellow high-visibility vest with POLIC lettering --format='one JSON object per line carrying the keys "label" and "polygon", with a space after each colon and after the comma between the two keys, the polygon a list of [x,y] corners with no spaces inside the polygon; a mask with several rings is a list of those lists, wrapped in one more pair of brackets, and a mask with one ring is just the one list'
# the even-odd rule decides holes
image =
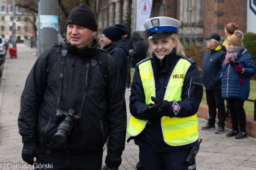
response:
{"label": "policewoman's yellow high-visibility vest with POLIC lettering", "polygon": [[[166,87],[164,100],[181,101],[182,86],[185,74],[191,65],[186,59],[180,59],[171,74]],[[151,96],[155,97],[155,81],[152,71],[151,60],[147,60],[139,65],[140,77],[145,93],[146,105],[152,103]],[[179,111],[179,105],[175,103],[173,109]],[[127,128],[130,136],[137,136],[146,127],[146,123],[141,119],[131,117]],[[162,133],[166,144],[171,146],[186,145],[198,140],[198,121],[196,114],[189,117],[166,117],[161,118]]]}

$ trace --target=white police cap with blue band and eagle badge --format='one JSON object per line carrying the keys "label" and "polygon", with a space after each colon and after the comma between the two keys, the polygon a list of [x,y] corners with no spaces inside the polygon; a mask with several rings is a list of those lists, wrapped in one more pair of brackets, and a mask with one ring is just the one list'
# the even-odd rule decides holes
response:
{"label": "white police cap with blue band and eagle badge", "polygon": [[148,29],[148,39],[169,37],[173,33],[177,34],[177,28],[181,22],[170,17],[154,17],[144,22],[144,27]]}

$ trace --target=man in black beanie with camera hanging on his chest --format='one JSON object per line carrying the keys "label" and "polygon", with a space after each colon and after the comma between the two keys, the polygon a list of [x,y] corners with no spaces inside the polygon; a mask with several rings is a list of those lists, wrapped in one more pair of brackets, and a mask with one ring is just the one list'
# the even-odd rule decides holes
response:
{"label": "man in black beanie with camera hanging on his chest", "polygon": [[32,165],[36,157],[44,169],[100,170],[109,136],[105,163],[118,167],[127,125],[118,66],[97,48],[87,5],[72,9],[67,26],[66,42],[45,49],[27,77],[18,118],[22,159]]}

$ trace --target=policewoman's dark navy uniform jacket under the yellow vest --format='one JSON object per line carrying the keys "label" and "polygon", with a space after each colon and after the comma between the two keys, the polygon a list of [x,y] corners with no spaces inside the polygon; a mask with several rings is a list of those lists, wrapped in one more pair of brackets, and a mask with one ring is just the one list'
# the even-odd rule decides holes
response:
{"label": "policewoman's dark navy uniform jacket under the yellow vest", "polygon": [[[180,110],[175,114],[173,111],[174,101],[163,101],[163,98],[174,67],[181,58],[188,60],[191,65],[184,77],[181,101],[176,101],[180,106]],[[152,53],[152,57],[148,57],[137,63],[130,95],[130,113],[132,116],[142,120],[150,119],[146,113],[143,113],[143,110],[148,105],[145,104],[145,94],[138,67],[140,63],[146,60],[151,60],[152,70],[155,73],[155,97],[162,100],[165,104],[165,115],[170,117],[188,117],[196,114],[203,97],[203,82],[199,77],[196,63],[185,56],[177,56],[176,48],[174,48],[169,55],[166,55],[163,58],[163,60],[159,60],[154,53]],[[130,137],[130,139],[134,139],[136,145],[157,152],[177,151],[198,145],[198,141],[175,147],[166,144],[163,139],[161,119],[157,121],[148,121],[144,130],[137,136]],[[128,141],[130,139],[128,139]]]}

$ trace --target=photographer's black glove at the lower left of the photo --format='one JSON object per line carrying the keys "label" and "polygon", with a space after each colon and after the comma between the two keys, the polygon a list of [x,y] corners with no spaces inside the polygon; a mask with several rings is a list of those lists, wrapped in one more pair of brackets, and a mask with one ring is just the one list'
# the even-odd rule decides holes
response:
{"label": "photographer's black glove at the lower left of the photo", "polygon": [[41,158],[38,152],[38,148],[36,142],[34,141],[25,141],[23,144],[22,152],[21,152],[22,159],[30,165],[35,163],[34,157],[41,162]]}

